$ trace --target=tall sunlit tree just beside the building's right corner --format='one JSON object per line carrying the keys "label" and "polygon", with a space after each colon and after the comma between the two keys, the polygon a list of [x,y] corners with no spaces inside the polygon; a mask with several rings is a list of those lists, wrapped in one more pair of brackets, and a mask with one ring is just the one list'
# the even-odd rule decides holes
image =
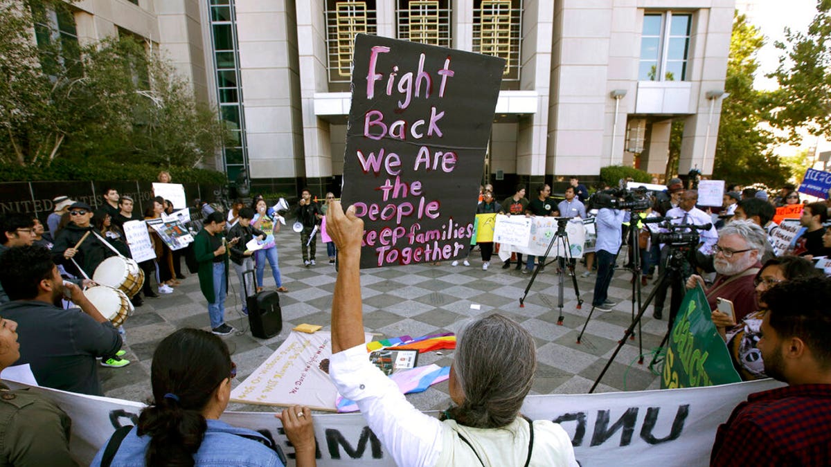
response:
{"label": "tall sunlit tree just beside the building's right corner", "polygon": [[770,96],[753,88],[759,68],[756,52],[764,44],[759,28],[736,15],[730,37],[725,91],[719,135],[715,143],[713,177],[728,183],[779,186],[788,178],[787,169],[772,148],[776,138],[765,128],[765,104]]}

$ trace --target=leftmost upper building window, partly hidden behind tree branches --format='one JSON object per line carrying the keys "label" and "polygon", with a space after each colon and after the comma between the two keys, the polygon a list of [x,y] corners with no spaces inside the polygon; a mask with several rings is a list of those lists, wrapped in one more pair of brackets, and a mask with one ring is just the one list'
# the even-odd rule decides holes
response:
{"label": "leftmost upper building window, partly hidden behind tree branches", "polygon": [[41,66],[47,75],[82,76],[81,46],[71,9],[61,3],[53,7],[32,5],[32,17],[37,47],[42,52]]}

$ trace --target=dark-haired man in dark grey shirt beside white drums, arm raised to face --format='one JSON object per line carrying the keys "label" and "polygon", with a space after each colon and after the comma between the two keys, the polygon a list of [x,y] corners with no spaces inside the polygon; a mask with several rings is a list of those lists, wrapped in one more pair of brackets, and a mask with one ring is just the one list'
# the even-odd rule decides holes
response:
{"label": "dark-haired man in dark grey shirt beside white drums, arm raised to face", "polygon": [[[103,396],[96,357],[116,355],[121,337],[81,288],[63,281],[49,250],[10,248],[0,256],[0,283],[12,299],[0,316],[17,322],[17,364],[30,364],[41,386]],[[81,309],[61,308],[63,297]]]}

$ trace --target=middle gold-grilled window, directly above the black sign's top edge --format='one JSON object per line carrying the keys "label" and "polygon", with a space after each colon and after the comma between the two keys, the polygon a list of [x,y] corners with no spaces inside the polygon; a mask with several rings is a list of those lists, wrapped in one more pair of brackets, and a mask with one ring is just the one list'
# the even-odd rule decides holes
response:
{"label": "middle gold-grilled window, directly above the black sign's top edge", "polygon": [[450,47],[448,0],[399,0],[396,13],[399,39]]}

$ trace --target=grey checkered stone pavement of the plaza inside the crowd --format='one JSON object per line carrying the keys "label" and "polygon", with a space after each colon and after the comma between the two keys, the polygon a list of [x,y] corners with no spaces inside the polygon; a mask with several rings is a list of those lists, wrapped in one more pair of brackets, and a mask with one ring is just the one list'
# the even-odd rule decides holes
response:
{"label": "grey checkered stone pavement of the plaza inside the crowd", "polygon": [[[289,290],[280,294],[283,331],[277,336],[266,340],[251,336],[248,319],[240,312],[239,284],[232,269],[225,305],[226,319],[238,332],[224,337],[224,341],[238,368],[234,384],[254,371],[298,324],[307,322],[322,325],[324,330],[330,329],[332,292],[337,274],[335,267],[327,264],[325,244],[317,243],[317,266],[306,268],[300,255],[299,234],[283,229],[277,240],[283,285]],[[622,264],[622,256],[618,257],[618,265]],[[558,276],[554,264],[538,275],[524,307],[520,307],[519,298],[524,294],[530,275],[519,273],[513,265],[509,269],[501,268],[502,263],[496,256],[489,270],[483,271],[478,251],[471,253],[469,259],[470,267],[461,263],[451,267],[450,262],[445,262],[438,266],[417,264],[363,271],[361,291],[366,331],[379,334],[379,338],[458,332],[473,318],[499,312],[521,323],[537,343],[538,369],[532,394],[588,392],[632,321],[629,283],[632,274],[625,270],[615,273],[609,297],[619,301],[617,306],[611,312],[595,312],[578,344],[578,333],[591,310],[594,275],[578,277],[578,288],[584,300],[579,310],[572,282],[566,278],[564,322],[563,326],[558,326]],[[578,274],[583,271],[585,268],[578,264]],[[266,287],[273,288],[269,268],[265,274]],[[652,287],[650,283],[643,289],[644,298]],[[131,364],[117,369],[101,367],[99,374],[106,396],[146,401],[151,396],[151,357],[160,340],[181,327],[209,330],[206,302],[199,292],[196,275],[188,274],[172,294],[145,299],[145,305],[136,308],[124,327],[125,358],[130,359]],[[650,307],[642,320],[644,353],[657,347],[665,332],[666,321],[653,319]],[[647,369],[651,356],[647,355],[645,363],[639,364],[638,355],[638,340],[627,340],[597,391],[658,388],[658,377]],[[419,357],[419,362],[448,366],[452,357],[452,351],[427,352]],[[407,399],[420,410],[443,410],[450,405],[448,392],[445,381],[423,393],[409,395]],[[232,404],[229,410],[272,409]]]}

